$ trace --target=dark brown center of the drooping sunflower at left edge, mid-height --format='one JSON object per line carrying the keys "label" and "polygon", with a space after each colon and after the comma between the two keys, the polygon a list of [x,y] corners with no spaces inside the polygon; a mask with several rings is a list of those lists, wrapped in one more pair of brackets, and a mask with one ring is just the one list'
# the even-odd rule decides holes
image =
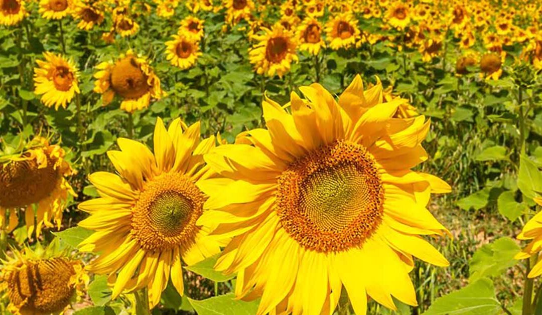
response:
{"label": "dark brown center of the drooping sunflower at left edge, mid-height", "polygon": [[38,169],[35,160],[22,160],[0,164],[0,207],[22,208],[47,198],[56,188],[60,173],[54,161]]}

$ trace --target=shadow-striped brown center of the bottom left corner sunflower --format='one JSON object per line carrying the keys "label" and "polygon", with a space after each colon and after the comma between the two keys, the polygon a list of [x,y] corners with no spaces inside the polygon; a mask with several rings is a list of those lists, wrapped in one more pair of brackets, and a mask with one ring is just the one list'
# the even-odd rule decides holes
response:
{"label": "shadow-striped brown center of the bottom left corner sunflower", "polygon": [[75,293],[73,275],[72,263],[64,258],[28,261],[8,274],[8,297],[23,314],[60,312]]}

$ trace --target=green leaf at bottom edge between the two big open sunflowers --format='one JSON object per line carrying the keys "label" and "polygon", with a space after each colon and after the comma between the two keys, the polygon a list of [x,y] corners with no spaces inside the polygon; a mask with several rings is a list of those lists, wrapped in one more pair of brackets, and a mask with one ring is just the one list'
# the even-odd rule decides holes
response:
{"label": "green leaf at bottom edge between the two big open sunflowers", "polygon": [[260,300],[250,302],[235,300],[234,294],[219,295],[201,301],[188,299],[198,315],[253,315]]}

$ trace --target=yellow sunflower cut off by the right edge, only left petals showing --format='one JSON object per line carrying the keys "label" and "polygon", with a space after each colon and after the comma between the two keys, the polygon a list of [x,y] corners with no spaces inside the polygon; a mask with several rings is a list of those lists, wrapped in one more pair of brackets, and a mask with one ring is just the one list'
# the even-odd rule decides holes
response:
{"label": "yellow sunflower cut off by the right edge, only left petals showing", "polygon": [[[538,205],[542,206],[542,197],[534,198],[534,201]],[[540,252],[542,247],[540,246],[540,241],[542,240],[542,211],[539,211],[535,216],[531,218],[521,230],[521,233],[518,235],[518,240],[531,240],[529,245],[521,250],[515,259],[526,259],[530,258],[532,255]],[[539,259],[534,266],[532,266],[531,271],[527,275],[529,278],[538,277],[542,274],[542,259]]]}

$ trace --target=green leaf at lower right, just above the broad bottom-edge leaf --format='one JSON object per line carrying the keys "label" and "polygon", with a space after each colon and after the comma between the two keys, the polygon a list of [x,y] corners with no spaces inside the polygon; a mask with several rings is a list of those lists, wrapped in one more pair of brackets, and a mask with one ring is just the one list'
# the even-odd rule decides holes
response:
{"label": "green leaf at lower right, just above the broad bottom-edge leaf", "polygon": [[510,237],[501,237],[493,243],[483,245],[469,261],[469,281],[500,275],[518,262],[514,255],[519,250],[518,244]]}

